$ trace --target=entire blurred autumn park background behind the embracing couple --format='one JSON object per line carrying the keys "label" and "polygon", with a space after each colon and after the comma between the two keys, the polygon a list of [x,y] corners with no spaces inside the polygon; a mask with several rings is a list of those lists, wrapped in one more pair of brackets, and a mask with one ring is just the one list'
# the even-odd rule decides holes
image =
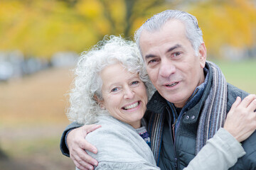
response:
{"label": "entire blurred autumn park background behind the embracing couple", "polygon": [[208,60],[256,94],[255,0],[0,0],[0,169],[74,169],[59,142],[77,57],[166,9],[196,16]]}

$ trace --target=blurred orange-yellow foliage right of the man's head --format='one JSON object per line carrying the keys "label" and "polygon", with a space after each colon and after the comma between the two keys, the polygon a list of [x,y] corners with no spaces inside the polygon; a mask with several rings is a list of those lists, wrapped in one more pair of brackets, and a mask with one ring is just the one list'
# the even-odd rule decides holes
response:
{"label": "blurred orange-yellow foliage right of the man's head", "polygon": [[223,45],[252,47],[255,45],[256,8],[251,1],[206,1],[188,11],[198,18],[203,38],[210,53],[218,55]]}

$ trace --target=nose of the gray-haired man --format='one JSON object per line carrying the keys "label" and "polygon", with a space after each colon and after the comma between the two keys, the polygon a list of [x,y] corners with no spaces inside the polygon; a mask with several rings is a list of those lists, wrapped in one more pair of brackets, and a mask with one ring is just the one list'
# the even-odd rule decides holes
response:
{"label": "nose of the gray-haired man", "polygon": [[161,77],[170,77],[171,74],[174,74],[176,71],[176,67],[174,63],[170,60],[162,60],[160,69],[159,69],[159,74]]}

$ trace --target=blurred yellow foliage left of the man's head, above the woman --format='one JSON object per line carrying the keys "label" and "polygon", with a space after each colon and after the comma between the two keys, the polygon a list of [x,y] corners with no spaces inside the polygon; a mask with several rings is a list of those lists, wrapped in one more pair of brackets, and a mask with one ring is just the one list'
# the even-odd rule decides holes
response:
{"label": "blurred yellow foliage left of the man's head, above the woman", "polygon": [[[47,58],[58,51],[80,53],[106,34],[133,35],[140,26],[137,22],[159,4],[156,0],[82,0],[69,6],[67,2],[2,0],[0,50]],[[128,8],[130,2],[134,6]]]}

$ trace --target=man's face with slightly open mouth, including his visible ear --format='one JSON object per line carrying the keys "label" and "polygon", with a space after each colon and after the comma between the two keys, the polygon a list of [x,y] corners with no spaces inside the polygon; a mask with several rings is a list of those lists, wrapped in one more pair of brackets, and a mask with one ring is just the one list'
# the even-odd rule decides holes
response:
{"label": "man's face with slightly open mouth, including his visible ear", "polygon": [[143,30],[139,44],[146,71],[159,94],[182,108],[205,79],[205,45],[201,44],[196,56],[184,24],[177,20],[168,21],[154,32]]}

